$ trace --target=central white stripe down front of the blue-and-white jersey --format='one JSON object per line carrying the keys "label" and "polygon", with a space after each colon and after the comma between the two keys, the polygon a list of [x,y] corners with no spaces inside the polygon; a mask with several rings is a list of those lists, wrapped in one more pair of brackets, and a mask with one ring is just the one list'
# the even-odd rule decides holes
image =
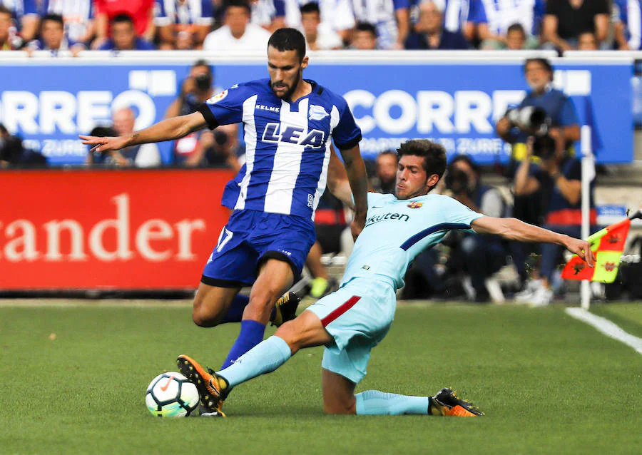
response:
{"label": "central white stripe down front of the blue-and-white jersey", "polygon": [[[290,104],[281,100],[280,128],[295,126],[303,128],[300,137],[307,135],[307,111],[310,98],[304,98],[299,102],[297,112],[290,111]],[[283,133],[280,131],[280,133]],[[303,158],[303,145],[289,142],[279,142],[274,154],[272,175],[270,183],[267,183],[265,192],[265,211],[270,213],[284,213],[290,215],[292,210],[292,195],[297,185],[301,160]]]}

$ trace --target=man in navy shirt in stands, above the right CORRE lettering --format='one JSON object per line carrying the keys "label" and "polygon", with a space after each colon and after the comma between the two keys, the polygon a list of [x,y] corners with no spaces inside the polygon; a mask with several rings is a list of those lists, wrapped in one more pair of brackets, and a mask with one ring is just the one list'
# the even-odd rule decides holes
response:
{"label": "man in navy shirt in stands, above the right CORRE lettering", "polygon": [[424,1],[419,5],[419,21],[406,40],[407,49],[468,49],[468,41],[459,32],[444,30],[442,13],[437,4]]}

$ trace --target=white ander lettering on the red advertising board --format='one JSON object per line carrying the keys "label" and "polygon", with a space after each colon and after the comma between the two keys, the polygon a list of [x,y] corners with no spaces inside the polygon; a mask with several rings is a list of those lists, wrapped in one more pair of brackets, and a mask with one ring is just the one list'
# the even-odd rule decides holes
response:
{"label": "white ander lettering on the red advertising board", "polygon": [[[132,226],[129,195],[116,195],[111,202],[115,205],[115,216],[93,225],[83,225],[73,218],[49,220],[41,225],[24,218],[0,223],[0,261],[76,262],[94,257],[101,262],[113,262],[136,256],[151,262],[196,259],[193,234],[205,230],[205,220],[184,219],[170,224],[153,218]],[[106,242],[106,237],[115,238],[116,242]],[[68,244],[66,251],[61,247],[63,238]],[[108,243],[112,246],[108,247]]]}

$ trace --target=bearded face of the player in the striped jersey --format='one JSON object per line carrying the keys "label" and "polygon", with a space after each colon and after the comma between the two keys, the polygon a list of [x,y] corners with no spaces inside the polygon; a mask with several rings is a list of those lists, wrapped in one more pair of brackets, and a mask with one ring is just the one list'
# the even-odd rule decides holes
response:
{"label": "bearded face of the player in the striped jersey", "polygon": [[267,71],[270,73],[270,87],[281,99],[290,99],[307,67],[307,56],[300,59],[297,51],[279,51],[267,47]]}

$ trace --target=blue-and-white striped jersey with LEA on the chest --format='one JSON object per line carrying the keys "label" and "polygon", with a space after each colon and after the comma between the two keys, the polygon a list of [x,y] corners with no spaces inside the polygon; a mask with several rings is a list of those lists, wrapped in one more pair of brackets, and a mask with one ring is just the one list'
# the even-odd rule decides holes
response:
{"label": "blue-and-white striped jersey with LEA on the chest", "polygon": [[225,186],[223,205],[314,218],[325,190],[330,136],[352,148],[361,130],[342,96],[314,81],[295,102],[277,98],[270,79],[239,83],[200,106],[210,128],[243,122],[245,165]]}

